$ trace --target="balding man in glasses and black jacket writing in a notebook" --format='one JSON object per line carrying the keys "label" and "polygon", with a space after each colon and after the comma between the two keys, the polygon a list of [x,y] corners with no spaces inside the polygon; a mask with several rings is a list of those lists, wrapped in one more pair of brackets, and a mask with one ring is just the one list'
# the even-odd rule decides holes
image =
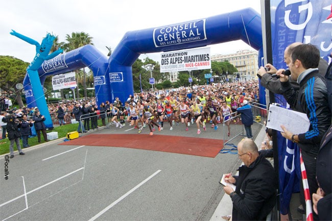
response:
{"label": "balding man in glasses and black jacket writing in a notebook", "polygon": [[274,169],[259,155],[252,139],[240,141],[238,155],[244,163],[239,168],[239,176],[225,178],[236,186],[235,191],[230,186],[224,187],[233,202],[232,220],[266,220],[277,199]]}

